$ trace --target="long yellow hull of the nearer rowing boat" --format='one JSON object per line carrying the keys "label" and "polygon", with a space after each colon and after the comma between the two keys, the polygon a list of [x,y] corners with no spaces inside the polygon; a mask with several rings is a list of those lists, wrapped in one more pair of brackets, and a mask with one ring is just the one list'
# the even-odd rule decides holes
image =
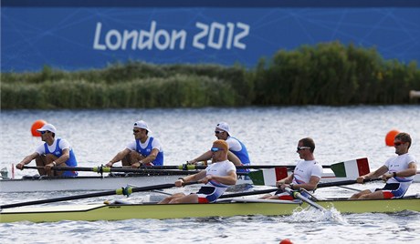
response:
{"label": "long yellow hull of the nearer rowing boat", "polygon": [[[404,210],[420,212],[420,198],[349,200],[329,199],[317,203],[323,208],[335,208],[341,213]],[[0,222],[54,222],[62,220],[124,220],[124,219],[184,219],[232,217],[249,215],[291,215],[310,206],[302,201],[233,198],[214,204],[88,204],[51,207],[6,208],[0,212]]]}

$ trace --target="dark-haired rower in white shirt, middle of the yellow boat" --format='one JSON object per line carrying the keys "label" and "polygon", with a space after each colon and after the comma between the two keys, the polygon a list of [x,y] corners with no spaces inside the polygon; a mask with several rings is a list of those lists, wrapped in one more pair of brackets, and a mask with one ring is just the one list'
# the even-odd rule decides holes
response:
{"label": "dark-haired rower in white shirt, middle of the yellow boat", "polygon": [[[266,195],[262,198],[293,200],[285,188],[299,189],[303,188],[308,191],[314,191],[317,188],[320,178],[322,176],[322,167],[315,160],[313,151],[315,150],[315,142],[310,137],[305,137],[299,140],[297,153],[302,160],[298,161],[293,173],[287,178],[280,179],[276,182],[278,191],[272,195]],[[310,197],[307,193],[301,193],[304,197]]]}

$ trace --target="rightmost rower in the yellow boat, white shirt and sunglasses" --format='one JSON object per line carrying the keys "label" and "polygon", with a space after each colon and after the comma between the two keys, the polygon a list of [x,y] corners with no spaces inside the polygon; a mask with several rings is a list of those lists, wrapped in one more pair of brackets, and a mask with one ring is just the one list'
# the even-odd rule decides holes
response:
{"label": "rightmost rower in the yellow boat, white shirt and sunglasses", "polygon": [[381,168],[357,178],[358,183],[363,183],[367,178],[382,177],[386,180],[383,188],[365,189],[352,195],[351,199],[386,199],[403,198],[417,173],[417,162],[413,155],[408,153],[411,147],[411,137],[408,133],[401,132],[394,137],[395,154],[389,158]]}

